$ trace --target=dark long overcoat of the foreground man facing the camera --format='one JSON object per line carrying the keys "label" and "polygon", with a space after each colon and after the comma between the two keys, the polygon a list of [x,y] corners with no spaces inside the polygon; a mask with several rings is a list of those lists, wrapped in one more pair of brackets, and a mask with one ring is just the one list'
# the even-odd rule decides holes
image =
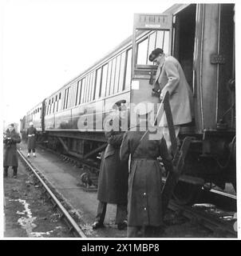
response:
{"label": "dark long overcoat of the foreground man facing the camera", "polygon": [[108,145],[101,157],[97,199],[101,202],[127,205],[128,162],[120,160],[124,132],[105,132]]}

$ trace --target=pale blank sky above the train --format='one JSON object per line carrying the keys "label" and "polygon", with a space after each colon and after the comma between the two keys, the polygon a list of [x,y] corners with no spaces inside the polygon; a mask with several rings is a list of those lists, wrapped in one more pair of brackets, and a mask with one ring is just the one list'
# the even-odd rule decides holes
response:
{"label": "pale blank sky above the train", "polygon": [[10,123],[128,38],[134,13],[161,13],[178,1],[0,2],[1,118]]}

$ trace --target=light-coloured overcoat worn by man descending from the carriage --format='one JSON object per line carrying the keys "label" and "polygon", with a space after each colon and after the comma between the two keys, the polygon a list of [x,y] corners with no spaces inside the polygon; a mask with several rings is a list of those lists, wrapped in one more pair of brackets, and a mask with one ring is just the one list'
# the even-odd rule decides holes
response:
{"label": "light-coloured overcoat worn by man descending from the carriage", "polygon": [[[172,56],[166,56],[156,71],[156,82],[159,83],[161,94],[167,91],[170,94],[170,106],[174,126],[192,122],[193,97],[192,90],[188,86],[184,70],[180,62]],[[162,120],[163,126],[167,126],[167,120]]]}

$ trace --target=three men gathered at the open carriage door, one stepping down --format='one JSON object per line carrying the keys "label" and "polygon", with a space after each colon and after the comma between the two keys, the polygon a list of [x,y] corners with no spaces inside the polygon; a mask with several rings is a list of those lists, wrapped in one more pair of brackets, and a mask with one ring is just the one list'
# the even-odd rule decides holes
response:
{"label": "three men gathered at the open carriage door, one stepping down", "polygon": [[[188,86],[180,63],[172,56],[166,56],[157,48],[149,60],[158,65],[154,92],[160,100],[168,91],[176,137],[180,125],[192,122],[192,92]],[[126,111],[120,102],[113,109],[116,118]],[[151,110],[146,108],[137,114],[136,127],[128,131],[110,130],[105,132],[108,146],[101,155],[101,170],[98,181],[97,215],[93,229],[103,228],[107,203],[117,205],[116,224],[119,230],[127,228],[127,237],[160,237],[163,232],[162,216],[162,159],[168,172],[173,171],[171,138],[167,121],[164,122],[163,136],[149,140],[146,124]],[[121,122],[120,122],[121,123]]]}

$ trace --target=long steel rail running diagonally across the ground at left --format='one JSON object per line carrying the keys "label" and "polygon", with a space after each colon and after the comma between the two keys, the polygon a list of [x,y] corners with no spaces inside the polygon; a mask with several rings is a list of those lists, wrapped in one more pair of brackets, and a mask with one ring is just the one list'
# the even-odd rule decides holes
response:
{"label": "long steel rail running diagonally across the ground at left", "polygon": [[65,218],[70,223],[70,225],[73,227],[73,230],[78,234],[81,238],[86,238],[86,235],[81,230],[81,228],[77,225],[77,223],[73,220],[73,218],[70,216],[69,212],[65,209],[64,206],[62,206],[61,202],[56,198],[56,196],[53,194],[53,192],[49,189],[49,187],[45,184],[45,182],[42,180],[42,178],[38,175],[37,170],[34,169],[34,167],[28,162],[25,158],[25,156],[18,150],[18,154],[21,156],[22,160],[26,163],[26,165],[32,170],[34,175],[38,178],[38,180],[41,182],[41,185],[45,188],[45,190],[49,193],[49,196],[53,199],[56,206],[61,210],[62,214],[65,215]]}

